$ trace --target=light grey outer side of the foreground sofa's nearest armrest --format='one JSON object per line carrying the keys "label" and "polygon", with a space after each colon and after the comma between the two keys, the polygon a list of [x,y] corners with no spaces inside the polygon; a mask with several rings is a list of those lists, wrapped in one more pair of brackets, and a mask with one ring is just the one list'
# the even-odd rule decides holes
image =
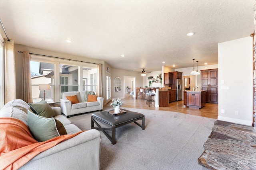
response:
{"label": "light grey outer side of the foreground sofa's nearest armrest", "polygon": [[100,132],[96,129],[82,132],[38,154],[22,166],[20,170],[99,170],[100,139]]}

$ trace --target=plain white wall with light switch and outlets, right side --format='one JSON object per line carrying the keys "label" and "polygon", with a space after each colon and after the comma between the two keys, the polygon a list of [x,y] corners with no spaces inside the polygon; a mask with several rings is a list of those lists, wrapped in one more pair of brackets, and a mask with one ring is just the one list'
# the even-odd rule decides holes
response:
{"label": "plain white wall with light switch and outlets, right side", "polygon": [[[244,37],[218,44],[218,119],[252,125],[253,42]],[[223,88],[230,87],[230,90]],[[221,109],[225,113],[221,113]],[[239,111],[239,115],[235,114]]]}

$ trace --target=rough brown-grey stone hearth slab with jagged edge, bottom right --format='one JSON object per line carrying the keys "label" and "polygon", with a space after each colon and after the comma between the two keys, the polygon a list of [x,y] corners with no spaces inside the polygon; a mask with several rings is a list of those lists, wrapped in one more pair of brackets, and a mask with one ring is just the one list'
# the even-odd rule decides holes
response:
{"label": "rough brown-grey stone hearth slab with jagged edge, bottom right", "polygon": [[199,164],[211,170],[256,170],[254,127],[216,121]]}

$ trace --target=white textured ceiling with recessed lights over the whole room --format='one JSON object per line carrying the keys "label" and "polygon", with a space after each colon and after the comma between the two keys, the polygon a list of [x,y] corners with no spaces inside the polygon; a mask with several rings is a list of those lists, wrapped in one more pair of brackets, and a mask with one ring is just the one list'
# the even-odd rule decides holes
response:
{"label": "white textured ceiling with recessed lights over the whole room", "polygon": [[[192,67],[192,59],[199,61],[198,66],[218,64],[218,43],[254,32],[254,3],[0,0],[0,19],[16,44],[100,59],[112,68],[150,72],[161,70],[162,65]],[[188,37],[189,32],[195,35]]]}

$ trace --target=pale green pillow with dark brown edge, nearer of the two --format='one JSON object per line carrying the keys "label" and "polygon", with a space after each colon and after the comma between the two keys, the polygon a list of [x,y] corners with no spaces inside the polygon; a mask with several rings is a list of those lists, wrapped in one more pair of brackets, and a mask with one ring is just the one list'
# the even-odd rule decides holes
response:
{"label": "pale green pillow with dark brown edge, nearer of the two", "polygon": [[[63,124],[60,123],[60,121],[57,121],[53,117],[42,117],[28,110],[28,127],[38,142],[43,142],[54,137],[58,137],[60,136],[60,132],[67,134],[65,133],[66,129],[64,128]],[[58,127],[60,127],[59,130]]]}

